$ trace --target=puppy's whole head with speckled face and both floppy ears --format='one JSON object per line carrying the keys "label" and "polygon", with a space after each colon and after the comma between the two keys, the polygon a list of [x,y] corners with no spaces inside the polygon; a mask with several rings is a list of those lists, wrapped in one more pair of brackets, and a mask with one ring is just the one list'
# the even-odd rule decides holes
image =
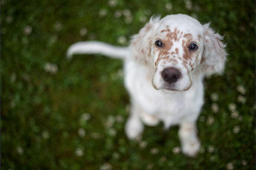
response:
{"label": "puppy's whole head with speckled face and both floppy ears", "polygon": [[138,62],[154,70],[155,89],[186,91],[194,72],[206,75],[221,73],[226,61],[223,37],[196,19],[169,15],[150,22],[135,35],[131,50]]}

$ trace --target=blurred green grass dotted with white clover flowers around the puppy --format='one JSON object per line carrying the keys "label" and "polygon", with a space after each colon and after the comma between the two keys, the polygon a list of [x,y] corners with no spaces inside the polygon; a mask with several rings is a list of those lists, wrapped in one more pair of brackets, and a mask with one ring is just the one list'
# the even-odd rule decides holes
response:
{"label": "blurred green grass dotted with white clover flowers around the puppy", "polygon": [[[255,1],[1,0],[1,168],[255,169]],[[122,61],[65,57],[69,45],[127,45],[152,14],[183,13],[225,35],[223,76],[206,78],[196,158],[178,127],[124,134]]]}

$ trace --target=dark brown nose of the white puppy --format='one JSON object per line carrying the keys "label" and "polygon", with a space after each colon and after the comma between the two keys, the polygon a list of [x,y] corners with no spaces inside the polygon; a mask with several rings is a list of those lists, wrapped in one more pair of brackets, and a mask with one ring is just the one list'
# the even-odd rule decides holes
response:
{"label": "dark brown nose of the white puppy", "polygon": [[167,67],[161,73],[164,81],[174,83],[180,78],[180,71],[174,67]]}

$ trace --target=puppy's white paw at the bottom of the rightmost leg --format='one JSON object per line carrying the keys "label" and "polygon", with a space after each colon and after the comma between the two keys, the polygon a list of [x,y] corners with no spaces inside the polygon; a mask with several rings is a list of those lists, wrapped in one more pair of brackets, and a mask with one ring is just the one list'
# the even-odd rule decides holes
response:
{"label": "puppy's white paw at the bottom of the rightmost leg", "polygon": [[183,144],[182,152],[184,154],[186,154],[187,156],[195,157],[195,156],[197,156],[200,146],[201,146],[201,144],[200,144],[199,140],[194,140],[193,142],[188,141]]}

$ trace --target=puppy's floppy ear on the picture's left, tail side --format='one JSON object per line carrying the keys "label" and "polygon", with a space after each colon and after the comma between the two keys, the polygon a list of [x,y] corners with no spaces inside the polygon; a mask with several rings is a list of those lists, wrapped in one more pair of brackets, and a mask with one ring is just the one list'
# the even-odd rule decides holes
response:
{"label": "puppy's floppy ear on the picture's left, tail side", "polygon": [[152,16],[150,22],[141,28],[138,34],[132,37],[130,45],[132,57],[140,64],[151,65],[150,63],[153,61],[152,41],[159,20],[160,16]]}

